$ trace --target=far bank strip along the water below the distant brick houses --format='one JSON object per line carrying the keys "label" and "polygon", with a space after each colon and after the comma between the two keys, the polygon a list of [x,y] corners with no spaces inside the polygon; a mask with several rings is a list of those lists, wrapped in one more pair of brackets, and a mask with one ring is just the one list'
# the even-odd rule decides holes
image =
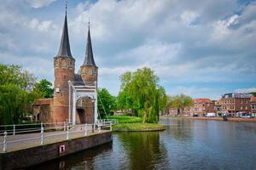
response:
{"label": "far bank strip along the water below the distant brick houses", "polygon": [[[172,117],[172,118],[185,118],[203,121],[223,121],[223,117],[204,117],[204,116],[161,116],[161,117]],[[241,118],[241,117],[228,117],[230,122],[256,122],[256,118]]]}

